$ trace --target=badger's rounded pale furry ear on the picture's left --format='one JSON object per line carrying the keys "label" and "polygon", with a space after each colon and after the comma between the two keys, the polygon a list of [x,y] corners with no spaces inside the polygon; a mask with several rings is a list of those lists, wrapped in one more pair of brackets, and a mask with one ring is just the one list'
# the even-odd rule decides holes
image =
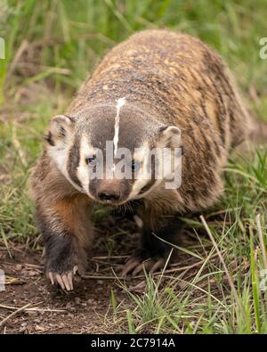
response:
{"label": "badger's rounded pale furry ear on the picture's left", "polygon": [[50,145],[55,145],[57,141],[68,139],[74,129],[75,121],[67,115],[55,116],[49,125],[49,129],[44,139]]}

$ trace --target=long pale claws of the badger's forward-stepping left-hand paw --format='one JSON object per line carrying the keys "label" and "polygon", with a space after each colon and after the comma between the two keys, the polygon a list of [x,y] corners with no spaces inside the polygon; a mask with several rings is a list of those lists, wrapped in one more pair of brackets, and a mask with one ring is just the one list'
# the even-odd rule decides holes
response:
{"label": "long pale claws of the badger's forward-stepping left-hand paw", "polygon": [[54,284],[59,284],[62,290],[72,291],[74,289],[73,282],[75,275],[82,275],[84,269],[80,266],[73,266],[69,271],[64,271],[58,273],[57,271],[48,270],[46,271],[46,277],[50,282]]}

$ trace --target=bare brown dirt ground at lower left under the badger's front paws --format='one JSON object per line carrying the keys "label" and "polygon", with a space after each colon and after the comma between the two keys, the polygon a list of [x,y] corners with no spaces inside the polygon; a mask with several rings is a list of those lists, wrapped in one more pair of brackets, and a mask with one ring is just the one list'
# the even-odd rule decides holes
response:
{"label": "bare brown dirt ground at lower left under the badger's front paws", "polygon": [[0,291],[0,332],[114,332],[114,327],[105,323],[105,316],[112,314],[109,307],[111,289],[116,299],[126,299],[114,275],[126,257],[117,255],[121,252],[117,239],[121,242],[121,237],[126,236],[125,252],[130,241],[138,236],[137,233],[129,235],[125,232],[125,226],[127,230],[131,226],[135,228],[133,222],[125,221],[125,225],[120,223],[119,226],[115,225],[116,222],[114,217],[109,217],[103,226],[106,230],[116,227],[116,231],[112,231],[118,233],[116,236],[109,230],[105,231],[104,236],[101,231],[96,233],[97,249],[89,260],[87,277],[77,282],[72,292],[60,291],[49,284],[43,272],[42,251],[26,250],[25,244],[10,242],[9,253],[2,243],[0,267],[5,274],[5,291]]}

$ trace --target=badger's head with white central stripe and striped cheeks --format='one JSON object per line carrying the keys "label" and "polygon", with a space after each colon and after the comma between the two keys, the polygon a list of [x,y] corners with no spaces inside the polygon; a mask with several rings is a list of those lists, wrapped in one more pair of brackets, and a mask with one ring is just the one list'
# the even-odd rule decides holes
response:
{"label": "badger's head with white central stripe and striped cheeks", "polygon": [[163,169],[162,156],[181,157],[180,136],[179,128],[119,99],[54,117],[45,139],[53,162],[79,192],[117,206],[174,174],[173,157]]}

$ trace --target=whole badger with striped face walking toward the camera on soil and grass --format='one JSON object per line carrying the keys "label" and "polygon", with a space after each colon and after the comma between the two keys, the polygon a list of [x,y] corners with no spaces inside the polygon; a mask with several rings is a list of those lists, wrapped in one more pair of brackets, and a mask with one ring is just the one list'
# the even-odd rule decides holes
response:
{"label": "whole badger with striped face walking toward the camera on soil and grass", "polygon": [[[112,48],[69,109],[51,120],[31,174],[48,279],[73,290],[93,245],[95,203],[131,208],[142,220],[140,247],[123,276],[162,269],[180,237],[180,218],[212,206],[223,191],[223,167],[250,125],[223,60],[198,38],[152,29]],[[174,187],[166,186],[169,174],[156,177],[162,164],[148,151],[157,148],[181,161]],[[132,177],[114,176],[119,149],[130,151],[124,167]],[[140,176],[147,165],[150,176]]]}

